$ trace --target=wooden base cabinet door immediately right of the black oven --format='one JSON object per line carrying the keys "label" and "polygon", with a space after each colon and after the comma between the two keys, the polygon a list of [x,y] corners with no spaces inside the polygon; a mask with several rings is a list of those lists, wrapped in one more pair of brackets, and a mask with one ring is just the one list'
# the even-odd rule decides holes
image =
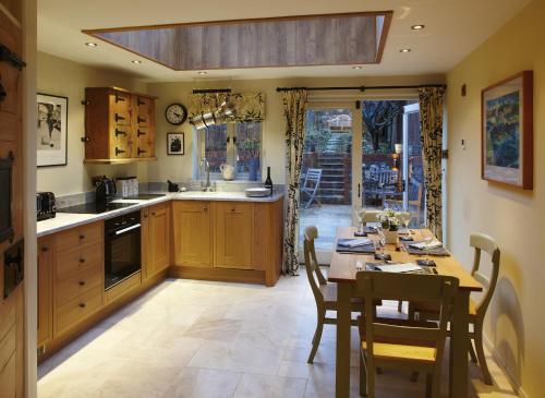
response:
{"label": "wooden base cabinet door immediately right of the black oven", "polygon": [[170,266],[170,203],[142,210],[142,263],[144,277]]}

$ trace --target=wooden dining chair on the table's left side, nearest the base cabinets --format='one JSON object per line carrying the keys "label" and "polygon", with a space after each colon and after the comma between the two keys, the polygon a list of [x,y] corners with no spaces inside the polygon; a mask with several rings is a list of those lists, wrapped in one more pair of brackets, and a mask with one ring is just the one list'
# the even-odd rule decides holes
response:
{"label": "wooden dining chair on the table's left side, nearest the base cabinets", "polygon": [[[337,311],[337,284],[328,282],[322,270],[319,269],[316,260],[316,251],[314,240],[318,238],[318,229],[314,226],[308,226],[304,230],[304,256],[305,269],[308,282],[311,284],[312,292],[316,301],[317,324],[316,331],[312,339],[312,350],[308,355],[308,363],[313,363],[316,351],[318,350],[322,339],[324,325],[337,325],[336,317],[327,317],[327,311]],[[351,311],[363,313],[363,300],[354,298],[351,303]],[[358,319],[352,319],[352,326],[358,326]]]}

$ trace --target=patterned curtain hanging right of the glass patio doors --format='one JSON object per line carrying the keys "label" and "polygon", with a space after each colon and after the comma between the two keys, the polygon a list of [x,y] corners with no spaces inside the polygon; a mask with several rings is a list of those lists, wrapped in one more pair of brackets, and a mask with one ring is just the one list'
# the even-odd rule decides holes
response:
{"label": "patterned curtain hanging right of the glass patio doors", "polygon": [[437,239],[443,239],[443,102],[444,87],[422,87],[420,131],[424,181],[426,184],[426,225]]}

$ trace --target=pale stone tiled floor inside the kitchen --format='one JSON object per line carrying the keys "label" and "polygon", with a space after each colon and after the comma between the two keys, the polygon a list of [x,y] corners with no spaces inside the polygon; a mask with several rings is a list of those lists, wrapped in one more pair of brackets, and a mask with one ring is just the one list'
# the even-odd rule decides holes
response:
{"label": "pale stone tiled floor inside the kitchen", "polygon": [[[397,313],[395,303],[386,306]],[[306,363],[315,316],[304,269],[275,288],[169,279],[43,363],[38,396],[334,397],[334,327],[325,327],[315,363]],[[513,396],[489,361],[497,384],[483,385],[472,364],[470,396]],[[423,381],[410,383],[408,374],[385,370],[377,383],[378,397],[424,396]]]}

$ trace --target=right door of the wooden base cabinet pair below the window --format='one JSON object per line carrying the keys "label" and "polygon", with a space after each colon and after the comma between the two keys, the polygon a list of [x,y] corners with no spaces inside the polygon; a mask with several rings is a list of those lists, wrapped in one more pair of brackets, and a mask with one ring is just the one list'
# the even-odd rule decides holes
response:
{"label": "right door of the wooden base cabinet pair below the window", "polygon": [[253,203],[216,204],[215,267],[252,269],[253,209]]}

